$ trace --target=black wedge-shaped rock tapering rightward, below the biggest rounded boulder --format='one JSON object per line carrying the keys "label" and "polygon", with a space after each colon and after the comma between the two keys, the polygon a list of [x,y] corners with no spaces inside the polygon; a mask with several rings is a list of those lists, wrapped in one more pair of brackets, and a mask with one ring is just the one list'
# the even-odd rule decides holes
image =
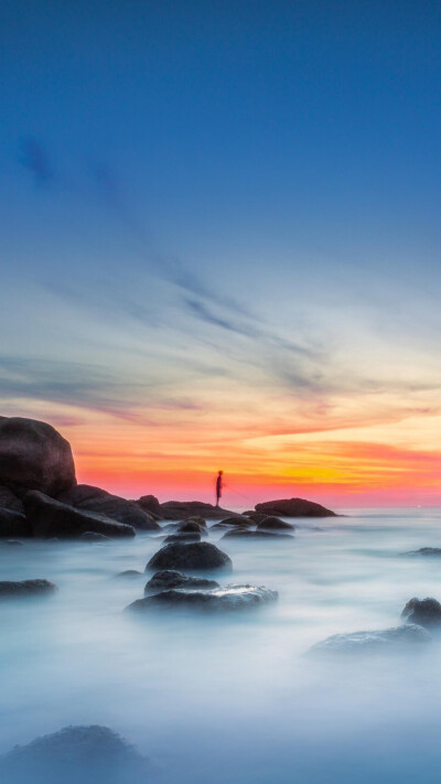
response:
{"label": "black wedge-shaped rock tapering rightward, below the biggest rounded boulder", "polygon": [[105,515],[75,509],[37,491],[28,493],[23,503],[32,535],[39,538],[75,539],[86,531],[110,537],[135,536],[135,528],[129,525],[117,523]]}

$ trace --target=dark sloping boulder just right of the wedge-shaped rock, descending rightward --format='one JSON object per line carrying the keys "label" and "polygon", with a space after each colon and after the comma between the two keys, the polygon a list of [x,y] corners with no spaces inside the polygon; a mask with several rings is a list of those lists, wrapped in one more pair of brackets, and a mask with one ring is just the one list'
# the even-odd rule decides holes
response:
{"label": "dark sloping boulder just right of the wedge-shaped rock, descending rightward", "polygon": [[126,523],[139,530],[160,530],[158,523],[141,509],[135,501],[127,501],[119,495],[112,495],[106,490],[94,487],[90,484],[77,484],[75,487],[61,493],[57,501],[77,509],[96,512],[106,515],[118,523]]}

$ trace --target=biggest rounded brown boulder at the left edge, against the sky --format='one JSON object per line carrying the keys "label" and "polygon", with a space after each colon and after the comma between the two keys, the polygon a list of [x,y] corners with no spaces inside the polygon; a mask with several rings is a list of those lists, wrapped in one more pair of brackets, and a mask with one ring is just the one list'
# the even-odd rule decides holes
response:
{"label": "biggest rounded brown boulder at the left edge, against the sky", "polygon": [[76,484],[72,449],[52,425],[0,418],[0,484],[22,497],[29,490],[58,495]]}

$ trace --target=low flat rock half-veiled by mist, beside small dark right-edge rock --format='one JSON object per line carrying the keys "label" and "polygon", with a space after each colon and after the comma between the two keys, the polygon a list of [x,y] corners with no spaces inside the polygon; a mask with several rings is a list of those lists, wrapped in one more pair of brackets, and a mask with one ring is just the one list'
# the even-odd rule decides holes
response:
{"label": "low flat rock half-veiled by mist, beside small dark right-edge rock", "polygon": [[310,648],[313,654],[358,654],[388,653],[408,645],[422,644],[431,641],[431,636],[422,626],[407,625],[384,629],[373,632],[352,632],[334,634]]}

